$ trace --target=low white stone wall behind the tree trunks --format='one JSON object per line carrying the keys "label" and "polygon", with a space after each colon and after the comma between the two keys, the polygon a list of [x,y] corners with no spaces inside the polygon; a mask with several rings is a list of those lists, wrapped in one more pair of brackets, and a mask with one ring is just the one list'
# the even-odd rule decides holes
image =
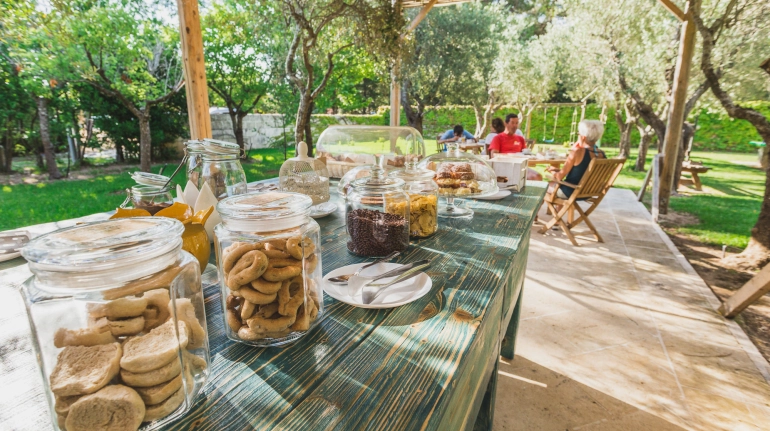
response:
{"label": "low white stone wall behind the tree trunks", "polygon": [[[243,118],[243,139],[246,148],[267,148],[283,132],[283,122],[277,114],[249,114]],[[286,131],[293,130],[292,124]],[[211,133],[214,139],[235,143],[232,122],[228,114],[211,114]]]}

